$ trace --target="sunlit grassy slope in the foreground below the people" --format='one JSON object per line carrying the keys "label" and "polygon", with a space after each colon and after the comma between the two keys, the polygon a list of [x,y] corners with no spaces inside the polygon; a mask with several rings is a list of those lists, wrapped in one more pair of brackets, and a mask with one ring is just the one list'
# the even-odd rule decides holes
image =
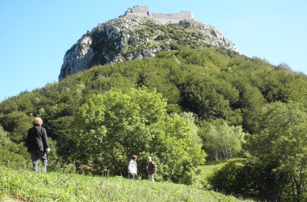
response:
{"label": "sunlit grassy slope in the foreground below the people", "polygon": [[242,201],[170,182],[64,173],[32,173],[0,167],[2,201]]}

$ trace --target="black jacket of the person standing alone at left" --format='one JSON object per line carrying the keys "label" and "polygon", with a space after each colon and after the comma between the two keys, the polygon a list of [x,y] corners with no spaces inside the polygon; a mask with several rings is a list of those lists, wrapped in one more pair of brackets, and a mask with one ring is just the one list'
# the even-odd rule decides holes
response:
{"label": "black jacket of the person standing alone at left", "polygon": [[45,128],[35,125],[28,131],[27,136],[28,151],[41,150],[46,151],[49,148],[47,132]]}

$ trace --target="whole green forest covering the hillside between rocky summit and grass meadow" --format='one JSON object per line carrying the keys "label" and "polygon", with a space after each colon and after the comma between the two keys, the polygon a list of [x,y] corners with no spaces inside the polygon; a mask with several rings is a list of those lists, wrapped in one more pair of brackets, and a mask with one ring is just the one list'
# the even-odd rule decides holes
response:
{"label": "whole green forest covering the hillside between rocky summit and grass meadow", "polygon": [[[0,165],[31,168],[25,137],[41,117],[48,170],[145,178],[261,201],[307,200],[307,77],[222,48],[175,47],[90,70],[0,103]],[[229,161],[243,157],[241,162]],[[223,160],[205,181],[200,165]]]}

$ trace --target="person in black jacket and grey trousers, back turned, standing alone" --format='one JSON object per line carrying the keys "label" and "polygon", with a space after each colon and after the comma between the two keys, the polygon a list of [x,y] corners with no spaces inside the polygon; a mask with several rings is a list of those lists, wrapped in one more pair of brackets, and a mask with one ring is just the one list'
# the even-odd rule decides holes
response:
{"label": "person in black jacket and grey trousers, back turned, standing alone", "polygon": [[28,152],[31,154],[33,171],[38,172],[38,159],[41,160],[43,171],[47,172],[47,154],[50,151],[47,132],[41,127],[43,121],[41,118],[33,120],[33,127],[29,129],[27,136]]}

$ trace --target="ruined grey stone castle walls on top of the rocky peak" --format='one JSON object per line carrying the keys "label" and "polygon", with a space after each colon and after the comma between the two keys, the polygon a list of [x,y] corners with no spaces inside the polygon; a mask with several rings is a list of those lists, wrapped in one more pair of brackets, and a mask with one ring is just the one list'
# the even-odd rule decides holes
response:
{"label": "ruined grey stone castle walls on top of the rocky peak", "polygon": [[181,11],[180,13],[151,13],[148,11],[148,6],[133,6],[133,8],[127,9],[125,15],[149,17],[167,24],[178,24],[181,20],[196,20],[191,11]]}

